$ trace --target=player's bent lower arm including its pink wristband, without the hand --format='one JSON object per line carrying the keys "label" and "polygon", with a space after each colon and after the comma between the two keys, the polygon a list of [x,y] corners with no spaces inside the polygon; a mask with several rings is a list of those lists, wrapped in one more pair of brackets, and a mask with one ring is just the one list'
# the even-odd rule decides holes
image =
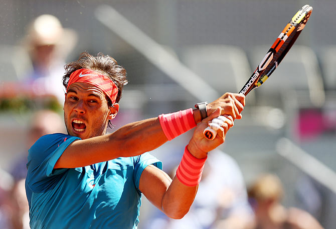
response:
{"label": "player's bent lower arm including its pink wristband, without the hand", "polygon": [[[141,174],[139,189],[167,216],[182,218],[195,199],[205,160],[206,158],[194,157],[186,147],[173,180],[164,171],[149,165]],[[181,170],[180,166],[184,170]]]}

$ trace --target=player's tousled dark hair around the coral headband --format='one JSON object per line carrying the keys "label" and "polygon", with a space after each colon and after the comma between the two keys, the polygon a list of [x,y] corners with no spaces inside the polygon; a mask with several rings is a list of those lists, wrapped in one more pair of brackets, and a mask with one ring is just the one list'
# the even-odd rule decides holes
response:
{"label": "player's tousled dark hair around the coral headband", "polygon": [[[110,77],[118,88],[118,94],[115,102],[119,102],[121,98],[122,88],[128,82],[126,78],[127,73],[125,68],[118,65],[117,61],[113,57],[109,55],[104,55],[101,52],[99,52],[97,56],[93,56],[86,51],[82,52],[78,60],[66,64],[64,68],[65,74],[63,76],[63,85],[65,86],[65,88],[68,87],[70,74],[80,68],[88,68]],[[106,99],[108,102],[108,106],[113,106],[111,99],[107,96]],[[109,121],[109,126],[110,124],[111,123]]]}

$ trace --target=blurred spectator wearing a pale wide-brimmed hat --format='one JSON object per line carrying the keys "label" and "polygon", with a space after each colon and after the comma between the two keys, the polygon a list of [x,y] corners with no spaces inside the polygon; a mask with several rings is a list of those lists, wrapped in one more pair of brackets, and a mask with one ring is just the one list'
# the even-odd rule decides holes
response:
{"label": "blurred spectator wearing a pale wide-brimmed hat", "polygon": [[32,21],[24,37],[24,45],[33,65],[27,72],[24,83],[36,94],[55,95],[61,105],[64,103],[62,79],[65,59],[77,41],[77,34],[62,27],[59,19],[43,14]]}

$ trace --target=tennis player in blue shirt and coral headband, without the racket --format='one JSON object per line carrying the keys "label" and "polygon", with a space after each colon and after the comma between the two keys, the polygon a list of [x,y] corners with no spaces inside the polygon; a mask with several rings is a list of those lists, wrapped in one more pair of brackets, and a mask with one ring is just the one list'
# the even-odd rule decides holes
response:
{"label": "tennis player in blue shirt and coral headband, without the racket", "polygon": [[[207,152],[223,143],[234,119],[242,117],[245,96],[225,93],[209,104],[106,134],[119,110],[125,69],[108,55],[87,52],[65,69],[68,134],[44,135],[29,150],[31,228],[137,228],[141,193],[166,215],[182,218],[196,195]],[[218,134],[207,140],[203,130],[218,116]],[[148,151],[194,127],[172,180]]]}

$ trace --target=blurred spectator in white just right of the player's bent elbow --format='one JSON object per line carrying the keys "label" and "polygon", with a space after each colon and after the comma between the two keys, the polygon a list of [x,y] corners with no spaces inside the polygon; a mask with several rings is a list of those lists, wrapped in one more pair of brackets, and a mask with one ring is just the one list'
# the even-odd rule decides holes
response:
{"label": "blurred spectator in white just right of the player's bent elbow", "polygon": [[[175,173],[176,167],[172,169],[170,176],[174,177]],[[141,228],[248,228],[253,220],[253,211],[247,200],[240,168],[230,155],[218,149],[212,150],[208,154],[200,183],[194,203],[182,219],[174,220],[155,210]]]}

